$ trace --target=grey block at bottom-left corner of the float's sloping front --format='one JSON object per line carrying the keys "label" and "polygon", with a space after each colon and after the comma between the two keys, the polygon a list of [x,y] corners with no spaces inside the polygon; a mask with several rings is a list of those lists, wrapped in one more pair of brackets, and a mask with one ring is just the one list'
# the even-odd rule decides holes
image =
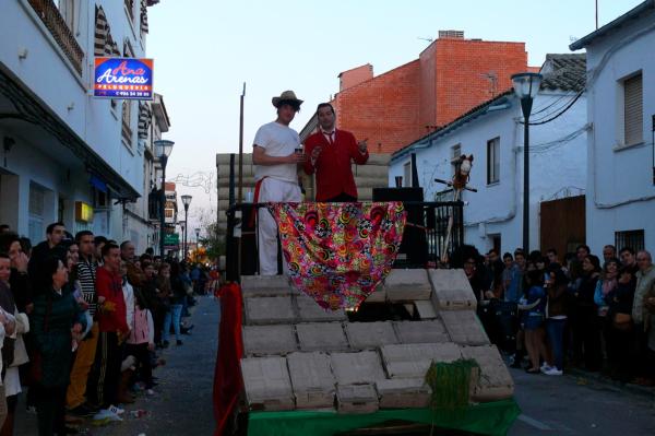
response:
{"label": "grey block at bottom-left corner of the float's sloping front", "polygon": [[241,374],[250,410],[294,410],[294,392],[285,357],[242,358]]}

